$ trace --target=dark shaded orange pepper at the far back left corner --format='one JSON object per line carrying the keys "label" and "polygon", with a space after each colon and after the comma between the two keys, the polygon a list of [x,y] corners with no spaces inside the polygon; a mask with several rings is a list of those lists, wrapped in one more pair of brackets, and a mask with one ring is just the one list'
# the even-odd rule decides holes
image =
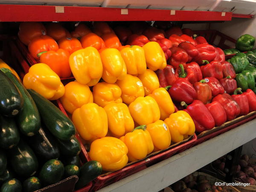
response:
{"label": "dark shaded orange pepper at the far back left corner", "polygon": [[46,29],[40,22],[22,22],[20,23],[20,29],[18,36],[20,41],[28,45],[35,37],[46,35]]}

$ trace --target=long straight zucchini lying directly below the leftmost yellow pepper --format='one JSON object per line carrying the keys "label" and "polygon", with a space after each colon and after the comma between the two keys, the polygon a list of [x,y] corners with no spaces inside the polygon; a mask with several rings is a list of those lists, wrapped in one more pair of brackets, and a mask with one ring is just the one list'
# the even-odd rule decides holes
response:
{"label": "long straight zucchini lying directly below the leftmost yellow pepper", "polygon": [[76,132],[73,122],[52,102],[49,102],[32,89],[29,89],[28,92],[34,99],[48,130],[60,140],[70,140]]}

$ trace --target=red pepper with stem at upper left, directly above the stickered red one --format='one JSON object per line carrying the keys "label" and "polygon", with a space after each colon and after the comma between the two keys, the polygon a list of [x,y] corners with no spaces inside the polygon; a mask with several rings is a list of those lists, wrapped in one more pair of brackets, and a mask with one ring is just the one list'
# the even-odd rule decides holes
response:
{"label": "red pepper with stem at upper left, directly above the stickered red one", "polygon": [[206,63],[206,65],[200,67],[203,77],[215,77],[218,80],[223,78],[222,66],[220,62],[212,61],[209,63],[209,61],[203,60],[202,63]]}

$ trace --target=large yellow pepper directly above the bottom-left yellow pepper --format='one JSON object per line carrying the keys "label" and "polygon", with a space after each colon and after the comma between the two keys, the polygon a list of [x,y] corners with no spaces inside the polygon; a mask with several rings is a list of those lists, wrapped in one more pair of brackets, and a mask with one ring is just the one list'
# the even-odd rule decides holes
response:
{"label": "large yellow pepper directly above the bottom-left yellow pepper", "polygon": [[72,114],[72,121],[84,140],[105,137],[108,133],[108,117],[105,110],[95,103],[87,103]]}

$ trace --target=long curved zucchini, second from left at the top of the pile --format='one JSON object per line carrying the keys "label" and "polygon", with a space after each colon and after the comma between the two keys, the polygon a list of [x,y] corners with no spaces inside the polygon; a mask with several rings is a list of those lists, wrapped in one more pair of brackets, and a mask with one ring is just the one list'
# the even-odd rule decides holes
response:
{"label": "long curved zucchini, second from left at the top of the pile", "polygon": [[36,107],[35,102],[27,92],[26,88],[17,79],[17,77],[6,68],[2,68],[1,70],[16,85],[24,99],[23,109],[17,115],[17,125],[19,126],[21,133],[25,134],[26,136],[33,136],[41,127],[41,118],[38,108]]}

